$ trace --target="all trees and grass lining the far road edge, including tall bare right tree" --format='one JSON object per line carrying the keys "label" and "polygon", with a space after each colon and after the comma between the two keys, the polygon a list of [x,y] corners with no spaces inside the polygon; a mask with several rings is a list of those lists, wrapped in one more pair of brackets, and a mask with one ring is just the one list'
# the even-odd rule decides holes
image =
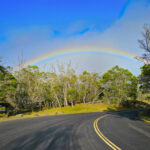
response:
{"label": "all trees and grass lining the far road edge, including tall bare right tree", "polygon": [[[71,64],[60,64],[41,72],[38,66],[19,63],[18,69],[0,65],[0,120],[149,108],[150,101],[150,27],[144,26],[146,53],[141,75],[114,66],[104,74],[83,71],[77,74]],[[145,116],[144,116],[145,115]],[[150,118],[150,114],[143,113]]]}

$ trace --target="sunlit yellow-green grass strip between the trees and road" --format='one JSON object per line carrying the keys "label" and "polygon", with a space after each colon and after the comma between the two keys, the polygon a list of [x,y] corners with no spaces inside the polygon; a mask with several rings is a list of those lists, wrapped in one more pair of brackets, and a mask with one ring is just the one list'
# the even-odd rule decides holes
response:
{"label": "sunlit yellow-green grass strip between the trees and road", "polygon": [[104,112],[111,109],[116,109],[115,105],[107,105],[107,104],[76,104],[74,107],[66,106],[66,107],[56,107],[51,109],[43,109],[41,111],[33,111],[26,112],[23,115],[19,114],[18,116],[10,116],[9,118],[2,117],[0,121],[5,120],[14,120],[20,118],[30,118],[30,117],[38,117],[38,116],[48,116],[48,115],[63,115],[63,114],[74,114],[74,113],[88,113],[88,112]]}

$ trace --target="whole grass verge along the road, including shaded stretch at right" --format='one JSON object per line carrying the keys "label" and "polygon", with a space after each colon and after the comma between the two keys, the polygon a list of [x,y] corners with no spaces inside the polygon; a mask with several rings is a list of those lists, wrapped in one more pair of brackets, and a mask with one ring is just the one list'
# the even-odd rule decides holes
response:
{"label": "whole grass verge along the road, including shaded stretch at right", "polygon": [[[133,102],[132,102],[133,103]],[[129,104],[128,104],[129,105]],[[75,114],[75,113],[89,113],[89,112],[104,112],[104,111],[118,111],[118,110],[133,110],[141,108],[141,106],[144,108],[145,105],[147,107],[147,103],[141,103],[140,101],[136,101],[136,104],[134,102],[134,105],[136,107],[128,107],[127,106],[120,106],[118,104],[102,104],[102,103],[86,103],[86,104],[76,104],[75,106],[66,106],[62,108],[51,108],[51,109],[45,109],[38,112],[28,112],[24,113],[23,117],[17,117],[17,116],[10,116],[8,118],[0,117],[0,121],[8,121],[8,120],[15,120],[15,119],[23,119],[23,118],[32,118],[37,116],[49,116],[49,115],[63,115],[63,114]],[[131,105],[132,106],[132,105]],[[142,117],[144,120],[150,120],[150,118],[147,118],[147,116]]]}

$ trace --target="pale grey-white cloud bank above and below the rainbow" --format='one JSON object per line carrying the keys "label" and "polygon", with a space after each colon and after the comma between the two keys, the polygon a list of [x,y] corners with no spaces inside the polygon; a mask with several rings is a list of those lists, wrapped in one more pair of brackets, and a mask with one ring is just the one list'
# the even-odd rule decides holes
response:
{"label": "pale grey-white cloud bank above and below the rainbow", "polygon": [[[122,18],[104,32],[93,30],[90,27],[91,30],[82,35],[71,35],[70,33],[79,32],[87,28],[82,22],[77,22],[64,31],[66,34],[70,34],[70,36],[61,35],[53,37],[53,29],[49,27],[34,27],[28,29],[28,31],[16,30],[11,33],[12,38],[0,46],[0,51],[4,54],[4,57],[6,56],[9,59],[9,63],[12,60],[16,60],[20,51],[23,51],[25,58],[29,60],[52,50],[65,47],[72,48],[80,45],[117,48],[140,55],[142,50],[140,50],[137,40],[141,38],[143,25],[145,23],[150,24],[150,5],[145,4],[146,0],[138,1],[137,3],[131,1]],[[9,56],[4,51],[7,51]],[[139,64],[134,66],[132,62],[112,56],[66,56],[59,60],[69,60],[70,58],[74,62],[78,59],[77,63],[82,64],[80,65],[81,68],[84,66],[87,70],[88,68],[89,70],[92,70],[92,68],[93,70],[97,68],[105,70],[105,68],[110,68],[112,64],[120,64],[136,74],[139,73]],[[52,62],[55,63],[55,61]]]}

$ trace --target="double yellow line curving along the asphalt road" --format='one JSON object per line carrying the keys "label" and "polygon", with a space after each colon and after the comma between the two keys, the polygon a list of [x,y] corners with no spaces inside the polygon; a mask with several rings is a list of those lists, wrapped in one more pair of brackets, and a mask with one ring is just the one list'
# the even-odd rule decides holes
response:
{"label": "double yellow line curving along the asphalt road", "polygon": [[94,130],[95,132],[97,133],[97,135],[109,146],[111,147],[113,150],[121,150],[121,148],[119,148],[118,146],[116,146],[114,143],[112,143],[109,139],[107,139],[103,134],[102,132],[99,130],[98,128],[98,121],[103,119],[104,117],[106,116],[109,116],[109,115],[104,115],[104,116],[101,116],[99,118],[97,118],[94,123],[93,123],[93,126],[94,126]]}

